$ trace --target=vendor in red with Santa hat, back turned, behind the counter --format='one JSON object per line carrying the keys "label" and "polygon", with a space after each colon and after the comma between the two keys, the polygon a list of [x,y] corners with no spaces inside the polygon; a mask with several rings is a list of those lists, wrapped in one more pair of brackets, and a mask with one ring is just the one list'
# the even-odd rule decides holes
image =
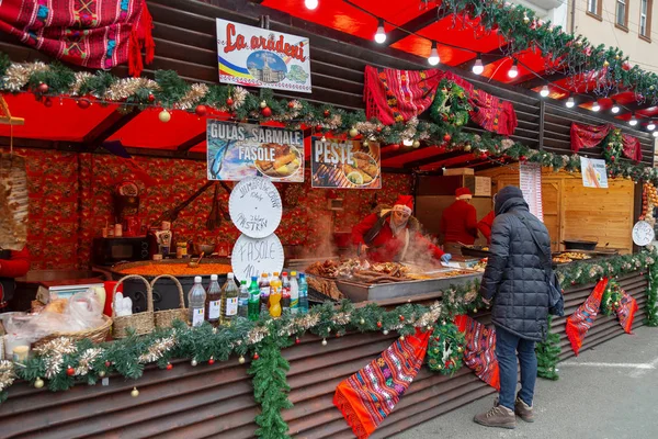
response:
{"label": "vendor in red with Santa hat, back turned, behind the counter", "polygon": [[472,246],[477,238],[477,213],[470,204],[473,194],[468,188],[458,188],[455,195],[457,200],[441,216],[441,233],[446,249],[458,249],[457,243]]}

